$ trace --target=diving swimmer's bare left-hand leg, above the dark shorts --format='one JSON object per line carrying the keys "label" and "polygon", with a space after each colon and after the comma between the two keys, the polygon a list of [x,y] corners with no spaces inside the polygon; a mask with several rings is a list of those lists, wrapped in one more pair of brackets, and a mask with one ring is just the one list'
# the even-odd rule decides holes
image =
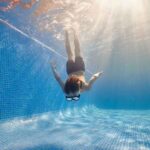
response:
{"label": "diving swimmer's bare left-hand leg, above the dark shorts", "polygon": [[70,41],[69,41],[69,37],[68,37],[68,31],[65,31],[65,45],[66,45],[66,51],[67,51],[67,55],[68,55],[68,60],[73,60],[73,52],[71,50],[71,46],[70,46]]}

